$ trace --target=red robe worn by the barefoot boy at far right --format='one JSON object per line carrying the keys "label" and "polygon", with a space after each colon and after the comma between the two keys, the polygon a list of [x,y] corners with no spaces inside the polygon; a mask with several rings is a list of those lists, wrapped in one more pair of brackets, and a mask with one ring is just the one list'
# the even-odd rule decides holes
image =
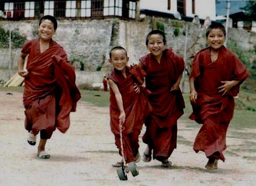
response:
{"label": "red robe worn by the barefoot boy at far right", "polygon": [[[229,49],[222,47],[215,62],[211,62],[210,48],[207,47],[196,54],[192,63],[190,78],[195,79],[195,88],[198,93],[196,104],[192,104],[193,113],[190,119],[197,121],[201,126],[194,142],[194,150],[205,152],[207,157],[225,160],[222,152],[226,148],[225,137],[229,122],[233,118],[235,101],[239,86],[250,73],[242,62]],[[218,93],[221,81],[238,80],[227,95]]]}

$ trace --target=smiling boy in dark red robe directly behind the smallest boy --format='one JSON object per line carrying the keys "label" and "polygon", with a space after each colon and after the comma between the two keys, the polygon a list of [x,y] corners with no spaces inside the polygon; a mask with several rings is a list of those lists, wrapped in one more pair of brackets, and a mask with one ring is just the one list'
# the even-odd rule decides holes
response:
{"label": "smiling boy in dark red robe directly behind the smallest boy", "polygon": [[177,146],[177,119],[185,108],[179,89],[185,62],[172,49],[166,49],[166,36],[160,30],[147,34],[146,46],[149,54],[140,58],[139,66],[146,71],[146,88],[151,91],[149,102],[153,110],[145,123],[142,139],[147,148],[142,160],[151,161],[153,150],[153,159],[162,162],[162,167],[170,167],[172,162],[168,158]]}

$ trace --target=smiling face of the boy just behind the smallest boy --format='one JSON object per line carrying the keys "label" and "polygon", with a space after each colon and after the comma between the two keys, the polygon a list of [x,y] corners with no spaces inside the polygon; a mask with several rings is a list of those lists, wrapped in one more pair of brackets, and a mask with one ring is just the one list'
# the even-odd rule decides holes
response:
{"label": "smiling face of the boy just behind the smallest boy", "polygon": [[166,43],[163,40],[164,38],[160,34],[152,34],[148,38],[147,49],[158,61],[160,61],[162,51],[166,47]]}

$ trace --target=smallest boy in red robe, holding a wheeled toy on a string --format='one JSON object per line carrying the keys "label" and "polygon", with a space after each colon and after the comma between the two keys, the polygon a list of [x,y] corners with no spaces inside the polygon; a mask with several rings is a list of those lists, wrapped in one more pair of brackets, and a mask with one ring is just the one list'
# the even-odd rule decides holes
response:
{"label": "smallest boy in red robe, holding a wheeled toy on a string", "polygon": [[[145,72],[134,65],[128,67],[129,57],[123,47],[114,47],[109,53],[109,62],[114,71],[109,76],[110,87],[110,127],[114,134],[119,154],[122,155],[120,125],[122,126],[123,152],[126,163],[140,161],[138,136],[146,115],[151,110],[147,91],[141,85]],[[123,161],[114,164],[122,167]]]}

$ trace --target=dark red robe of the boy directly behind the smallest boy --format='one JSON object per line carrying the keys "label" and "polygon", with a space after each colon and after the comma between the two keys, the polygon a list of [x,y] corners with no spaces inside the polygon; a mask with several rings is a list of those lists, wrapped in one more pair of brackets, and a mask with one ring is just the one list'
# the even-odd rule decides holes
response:
{"label": "dark red robe of the boy directly behind the smallest boy", "polygon": [[177,119],[185,108],[181,90],[170,90],[182,75],[185,62],[172,49],[163,51],[160,64],[151,54],[140,58],[140,62],[147,74],[146,87],[151,91],[149,102],[153,108],[143,141],[153,148],[154,158],[168,158],[177,146]]}

